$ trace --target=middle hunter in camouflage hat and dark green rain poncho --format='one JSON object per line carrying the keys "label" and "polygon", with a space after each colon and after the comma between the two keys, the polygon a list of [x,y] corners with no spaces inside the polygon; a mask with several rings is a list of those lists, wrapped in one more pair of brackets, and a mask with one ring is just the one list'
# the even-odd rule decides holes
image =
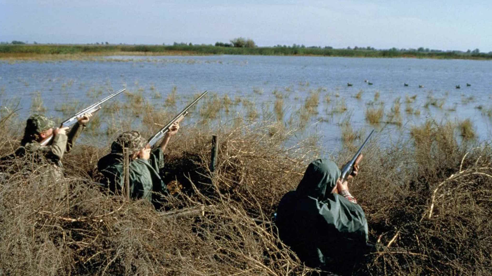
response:
{"label": "middle hunter in camouflage hat and dark green rain poncho", "polygon": [[130,197],[147,199],[158,208],[162,196],[168,195],[167,187],[159,175],[164,165],[164,150],[169,139],[179,129],[175,123],[169,128],[162,142],[151,151],[147,140],[139,132],[123,132],[112,144],[111,153],[97,162],[97,169],[104,175],[104,185],[113,193],[123,187],[123,148],[128,148]]}

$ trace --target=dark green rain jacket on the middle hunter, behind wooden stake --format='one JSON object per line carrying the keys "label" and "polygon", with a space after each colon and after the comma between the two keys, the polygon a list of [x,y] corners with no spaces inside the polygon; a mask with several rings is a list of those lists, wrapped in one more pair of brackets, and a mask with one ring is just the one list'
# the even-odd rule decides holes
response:
{"label": "dark green rain jacket on the middle hunter, behind wooden stake", "polygon": [[[149,201],[161,200],[167,195],[167,187],[159,175],[164,165],[164,153],[160,147],[151,152],[149,160],[135,159],[129,164],[130,197]],[[97,162],[97,169],[106,178],[105,186],[113,193],[123,187],[123,155],[110,153]]]}

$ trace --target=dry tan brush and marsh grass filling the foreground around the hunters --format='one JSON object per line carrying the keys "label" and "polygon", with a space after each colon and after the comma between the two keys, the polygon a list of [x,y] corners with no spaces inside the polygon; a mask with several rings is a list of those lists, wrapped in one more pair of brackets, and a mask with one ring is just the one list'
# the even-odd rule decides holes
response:
{"label": "dry tan brush and marsh grass filling the foreground around the hunters", "polygon": [[[217,95],[204,100],[220,108],[224,104]],[[140,107],[148,132],[158,127],[154,122],[172,115],[147,101]],[[106,117],[108,140],[131,127],[130,108],[122,109],[120,117]],[[202,105],[200,113],[207,108]],[[308,122],[305,105],[300,112]],[[9,141],[0,143],[2,154],[15,150],[20,133],[10,130],[25,123],[3,120],[8,114],[0,112],[0,134]],[[349,118],[340,125],[346,146],[333,154],[339,166],[353,155],[357,146],[350,143],[362,133],[352,129]],[[165,182],[177,181],[183,191],[169,198],[161,212],[143,200],[127,202],[101,193],[94,184],[100,180],[95,163],[109,149],[92,146],[96,142],[77,144],[64,155],[70,177],[59,184],[68,187],[69,196],[60,200],[52,196],[54,185],[41,185],[29,158],[4,163],[0,239],[6,242],[0,250],[8,254],[0,255],[0,270],[5,275],[319,275],[301,264],[271,226],[282,195],[294,190],[307,164],[326,151],[315,136],[285,146],[296,131],[275,121],[231,120],[230,126],[221,126],[217,168],[211,174],[212,132],[183,128],[168,145],[163,168]],[[361,276],[489,275],[492,151],[459,140],[456,125],[432,120],[394,144],[374,136],[350,185],[377,251],[353,272],[338,272],[338,263],[328,263],[327,269]],[[188,210],[199,212],[173,215]]]}

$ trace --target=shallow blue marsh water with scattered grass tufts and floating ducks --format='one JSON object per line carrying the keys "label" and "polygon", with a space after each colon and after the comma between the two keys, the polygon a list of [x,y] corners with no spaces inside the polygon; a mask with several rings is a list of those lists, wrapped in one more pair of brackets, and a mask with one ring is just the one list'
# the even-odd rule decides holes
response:
{"label": "shallow blue marsh water with scattered grass tufts and floating ducks", "polygon": [[[299,137],[315,133],[323,145],[338,148],[341,122],[350,122],[354,130],[369,131],[375,127],[404,133],[428,118],[452,122],[469,118],[479,139],[490,138],[491,69],[492,61],[482,60],[108,56],[90,60],[2,61],[0,89],[2,106],[7,105],[8,99],[20,101],[20,118],[35,112],[33,99],[38,95],[45,113],[64,117],[60,111],[63,102],[88,105],[108,91],[126,87],[130,93],[141,93],[154,106],[173,110],[181,109],[197,93],[209,90],[208,97],[216,94],[223,99],[227,95],[238,103],[228,111],[220,111],[217,125],[233,117],[247,117],[247,112],[253,109],[257,119],[280,120],[293,127],[299,126],[297,121],[301,119],[296,114],[303,113],[306,98],[317,94],[317,107],[305,118]],[[461,88],[457,89],[456,85]],[[173,89],[176,105],[166,107],[164,101]],[[274,108],[280,98],[281,118],[276,116]],[[380,124],[368,123],[368,109],[383,106],[385,114],[389,114],[394,112],[392,107],[397,98],[400,98],[400,123],[390,122],[386,115]],[[128,101],[128,97],[122,97],[122,101]],[[239,101],[247,102],[248,107]],[[340,111],[343,103],[347,110]],[[197,113],[191,123],[198,120]],[[101,121],[104,127],[104,118]]]}

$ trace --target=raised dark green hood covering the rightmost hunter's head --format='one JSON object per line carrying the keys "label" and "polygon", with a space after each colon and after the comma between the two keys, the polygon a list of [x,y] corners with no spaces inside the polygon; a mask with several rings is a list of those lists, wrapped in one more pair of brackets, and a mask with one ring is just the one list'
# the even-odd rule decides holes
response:
{"label": "raised dark green hood covering the rightmost hunter's head", "polygon": [[326,159],[314,160],[307,166],[296,192],[298,195],[307,195],[323,200],[335,188],[339,177],[340,169],[335,162]]}

